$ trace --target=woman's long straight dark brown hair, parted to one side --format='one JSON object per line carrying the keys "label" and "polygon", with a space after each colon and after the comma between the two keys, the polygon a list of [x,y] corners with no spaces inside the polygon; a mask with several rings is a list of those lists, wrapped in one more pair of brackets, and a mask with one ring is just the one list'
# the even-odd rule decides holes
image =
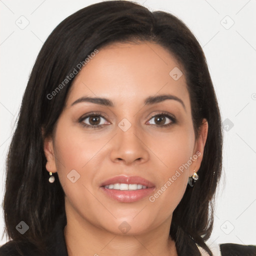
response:
{"label": "woman's long straight dark brown hair, parted to one side", "polygon": [[[208,121],[199,179],[194,187],[187,186],[173,211],[170,236],[179,255],[200,255],[195,243],[212,255],[205,241],[213,226],[214,195],[222,165],[222,130],[204,53],[177,17],[122,0],[92,4],[65,18],[48,36],[36,58],[7,155],[3,210],[5,232],[13,240],[43,246],[41,241],[64,211],[64,192],[57,174],[54,183],[48,182],[43,139],[52,134],[74,78],[54,98],[48,99],[47,95],[95,48],[137,41],[163,46],[182,65],[195,134],[202,119]],[[15,228],[21,220],[29,225],[23,235]]]}

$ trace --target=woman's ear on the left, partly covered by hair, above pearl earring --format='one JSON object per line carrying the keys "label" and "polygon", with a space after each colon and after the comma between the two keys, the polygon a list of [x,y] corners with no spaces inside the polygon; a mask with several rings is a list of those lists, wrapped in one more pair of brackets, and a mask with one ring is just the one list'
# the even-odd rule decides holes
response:
{"label": "woman's ear on the left, partly covered by hair, above pearl earring", "polygon": [[[42,130],[42,134],[43,134],[43,130]],[[43,140],[43,151],[44,151],[44,155],[46,157],[46,170],[48,172],[56,172],[57,168],[56,168],[56,163],[55,163],[55,155],[54,155],[54,148],[53,148],[53,141],[52,141],[52,137],[47,137],[44,138]]]}

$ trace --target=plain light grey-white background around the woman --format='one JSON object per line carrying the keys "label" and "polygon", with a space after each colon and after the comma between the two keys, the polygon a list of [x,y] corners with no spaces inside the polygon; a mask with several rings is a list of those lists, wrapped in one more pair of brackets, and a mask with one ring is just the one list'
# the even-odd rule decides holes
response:
{"label": "plain light grey-white background around the woman", "polygon": [[[98,1],[0,0],[1,199],[7,148],[35,58],[60,21],[95,2]],[[225,174],[217,194],[214,229],[207,244],[214,255],[219,255],[214,249],[219,243],[256,244],[256,0],[137,2],[151,10],[171,12],[187,24],[203,47],[215,86],[226,129]],[[1,210],[1,232],[3,227]],[[4,236],[0,244],[5,242]]]}

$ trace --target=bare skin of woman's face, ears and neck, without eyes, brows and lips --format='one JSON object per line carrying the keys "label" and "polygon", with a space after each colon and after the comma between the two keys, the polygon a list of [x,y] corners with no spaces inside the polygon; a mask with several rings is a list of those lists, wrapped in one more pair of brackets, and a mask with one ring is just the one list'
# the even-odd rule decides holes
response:
{"label": "bare skin of woman's face, ears and neck, without eyes, brows and lips", "polygon": [[[100,48],[76,76],[54,134],[44,141],[46,169],[57,172],[65,192],[69,256],[177,255],[169,238],[172,212],[188,177],[199,169],[208,125],[203,120],[195,139],[186,80],[184,75],[178,80],[169,75],[174,67],[182,71],[160,45],[114,43]],[[144,105],[146,97],[164,93],[180,98],[184,107],[174,99]],[[82,96],[108,98],[114,106],[71,105]],[[84,127],[78,121],[91,111],[104,116],[99,118],[101,128]],[[176,122],[160,127],[172,122],[163,116],[159,124],[152,117],[162,111],[174,115]],[[131,124],[126,131],[118,127],[123,118]],[[84,122],[93,125],[89,118]],[[136,175],[155,184],[153,195],[196,152],[201,154],[153,202],[148,197],[119,202],[99,188],[108,178]],[[67,178],[72,169],[80,175],[74,183]],[[130,226],[127,233],[118,228],[123,221]]]}

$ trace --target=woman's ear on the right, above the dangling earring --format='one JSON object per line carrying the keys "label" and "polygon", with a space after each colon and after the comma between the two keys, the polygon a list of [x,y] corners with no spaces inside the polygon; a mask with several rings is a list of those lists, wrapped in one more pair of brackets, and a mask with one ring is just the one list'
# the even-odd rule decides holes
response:
{"label": "woman's ear on the right, above the dangling earring", "polygon": [[189,168],[189,177],[193,175],[193,170],[196,172],[201,165],[203,149],[206,142],[207,133],[208,133],[208,122],[205,118],[203,118],[202,123],[199,127],[199,134],[197,139],[195,140],[195,145],[193,150],[193,155],[197,155],[197,158],[196,160],[193,161],[193,163]]}

